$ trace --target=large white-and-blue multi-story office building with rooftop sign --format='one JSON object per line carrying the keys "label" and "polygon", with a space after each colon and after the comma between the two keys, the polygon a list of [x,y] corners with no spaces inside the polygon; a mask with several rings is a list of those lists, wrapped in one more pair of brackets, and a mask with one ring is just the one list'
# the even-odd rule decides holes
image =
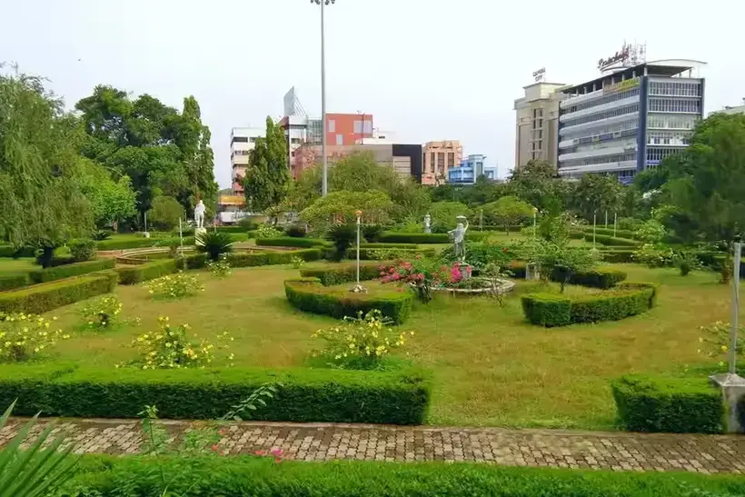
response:
{"label": "large white-and-blue multi-story office building with rooftop sign", "polygon": [[614,66],[587,83],[562,88],[561,177],[611,174],[630,183],[634,174],[688,146],[703,115],[702,65],[661,60]]}

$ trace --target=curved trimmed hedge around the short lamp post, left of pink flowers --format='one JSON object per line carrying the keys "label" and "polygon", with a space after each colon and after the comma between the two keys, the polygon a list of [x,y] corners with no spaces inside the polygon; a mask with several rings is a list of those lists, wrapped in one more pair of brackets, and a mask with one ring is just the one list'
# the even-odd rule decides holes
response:
{"label": "curved trimmed hedge around the short lamp post, left of pink flowers", "polygon": [[326,314],[341,319],[379,309],[397,324],[409,317],[414,300],[411,292],[368,295],[330,289],[324,287],[318,278],[286,280],[284,294],[289,303],[306,313]]}

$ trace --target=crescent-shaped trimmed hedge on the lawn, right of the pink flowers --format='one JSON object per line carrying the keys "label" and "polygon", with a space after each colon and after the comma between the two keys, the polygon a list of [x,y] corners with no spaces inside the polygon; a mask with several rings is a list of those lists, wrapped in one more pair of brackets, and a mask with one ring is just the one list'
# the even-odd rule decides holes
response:
{"label": "crescent-shaped trimmed hedge on the lawn, right of the pink flowers", "polygon": [[531,323],[548,327],[618,321],[651,309],[656,297],[652,283],[623,283],[598,295],[531,293],[522,296],[522,312]]}

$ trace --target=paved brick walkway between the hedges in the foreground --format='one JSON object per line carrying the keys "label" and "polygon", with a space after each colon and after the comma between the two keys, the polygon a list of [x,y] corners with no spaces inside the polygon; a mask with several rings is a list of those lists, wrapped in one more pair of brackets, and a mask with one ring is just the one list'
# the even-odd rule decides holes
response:
{"label": "paved brick walkway between the hedges in the foreground", "polygon": [[[0,446],[24,420],[0,430]],[[41,422],[35,432],[41,430]],[[164,422],[177,439],[189,422]],[[60,420],[55,431],[75,440],[76,452],[136,453],[140,423]],[[224,454],[282,449],[300,461],[494,462],[517,466],[745,473],[745,436],[401,427],[362,424],[241,422],[225,425],[214,449]]]}

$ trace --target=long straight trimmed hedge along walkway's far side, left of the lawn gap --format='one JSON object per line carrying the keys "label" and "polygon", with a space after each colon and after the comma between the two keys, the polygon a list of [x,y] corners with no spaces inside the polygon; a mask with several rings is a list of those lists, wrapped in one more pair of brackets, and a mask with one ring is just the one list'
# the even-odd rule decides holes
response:
{"label": "long straight trimmed hedge along walkway's far side, left of the lawn gap", "polygon": [[0,365],[0,404],[15,415],[136,418],[145,404],[166,419],[217,419],[264,383],[282,383],[271,403],[243,413],[277,422],[422,424],[430,385],[422,370],[296,368],[142,371],[75,364]]}

